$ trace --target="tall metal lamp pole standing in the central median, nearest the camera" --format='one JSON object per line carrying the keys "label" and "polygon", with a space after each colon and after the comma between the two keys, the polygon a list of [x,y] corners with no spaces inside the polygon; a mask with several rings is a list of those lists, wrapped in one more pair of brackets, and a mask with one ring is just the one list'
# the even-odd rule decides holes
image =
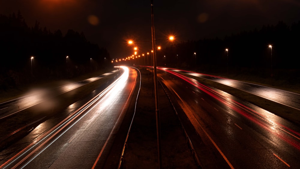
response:
{"label": "tall metal lamp pole standing in the central median, nearest the camera", "polygon": [[158,164],[161,168],[161,124],[158,108],[158,89],[157,89],[157,72],[156,72],[156,49],[155,49],[155,30],[153,17],[153,0],[151,0],[151,20],[152,20],[152,49],[153,49],[153,67],[154,67],[154,91],[155,91],[155,115],[156,115],[156,133],[157,133],[157,147],[158,147]]}

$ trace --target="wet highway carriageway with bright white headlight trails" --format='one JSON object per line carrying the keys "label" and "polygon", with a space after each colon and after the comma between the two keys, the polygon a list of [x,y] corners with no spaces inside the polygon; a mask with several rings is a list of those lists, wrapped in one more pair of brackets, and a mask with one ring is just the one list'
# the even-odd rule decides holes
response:
{"label": "wet highway carriageway with bright white headlight trails", "polygon": [[137,97],[137,70],[122,69],[106,89],[68,106],[68,116],[44,121],[1,151],[0,168],[101,168],[130,101]]}

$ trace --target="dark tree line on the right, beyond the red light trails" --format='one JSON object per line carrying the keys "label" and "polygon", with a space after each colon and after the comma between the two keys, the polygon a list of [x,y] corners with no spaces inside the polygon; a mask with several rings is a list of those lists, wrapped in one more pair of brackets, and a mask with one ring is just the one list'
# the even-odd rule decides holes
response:
{"label": "dark tree line on the right, beyond the red light trails", "polygon": [[229,73],[247,71],[254,75],[276,76],[280,71],[296,69],[299,73],[299,39],[300,21],[291,26],[280,21],[275,26],[262,26],[260,30],[243,31],[224,39],[173,44],[157,51],[157,61],[158,65],[202,72],[226,72],[229,69]]}

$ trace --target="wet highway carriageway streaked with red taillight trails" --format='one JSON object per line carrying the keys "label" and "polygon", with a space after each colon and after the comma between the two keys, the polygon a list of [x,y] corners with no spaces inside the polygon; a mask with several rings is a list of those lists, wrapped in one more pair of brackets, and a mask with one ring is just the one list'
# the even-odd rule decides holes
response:
{"label": "wet highway carriageway streaked with red taillight trails", "polygon": [[185,128],[190,123],[188,134],[202,168],[300,167],[298,125],[226,92],[204,86],[177,73],[178,70],[158,70],[159,80],[169,90],[176,109],[182,110],[179,116],[188,119],[182,120]]}

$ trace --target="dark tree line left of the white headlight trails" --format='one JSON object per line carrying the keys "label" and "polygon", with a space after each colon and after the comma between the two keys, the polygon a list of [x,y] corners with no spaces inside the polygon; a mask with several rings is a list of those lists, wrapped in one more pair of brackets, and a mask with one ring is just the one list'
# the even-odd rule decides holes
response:
{"label": "dark tree line left of the white headlight trails", "polygon": [[[107,49],[91,44],[83,32],[69,29],[52,33],[27,26],[20,11],[0,14],[0,89],[76,77],[112,66]],[[67,57],[68,56],[68,57]],[[31,58],[33,57],[33,59]]]}

